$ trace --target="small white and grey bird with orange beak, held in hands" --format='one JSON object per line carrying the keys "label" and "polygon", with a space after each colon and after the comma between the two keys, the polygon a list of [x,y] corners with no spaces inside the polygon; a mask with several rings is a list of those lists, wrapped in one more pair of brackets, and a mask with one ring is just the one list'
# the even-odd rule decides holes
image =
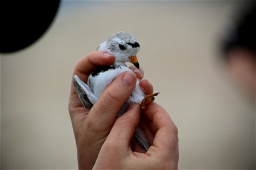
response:
{"label": "small white and grey bird with orange beak, held in hands", "polygon": [[[82,105],[86,108],[92,108],[102,92],[118,75],[125,71],[131,71],[125,62],[131,62],[139,69],[137,53],[140,50],[138,41],[130,35],[130,33],[119,31],[113,33],[106,41],[102,42],[97,50],[112,54],[115,61],[110,66],[98,66],[89,75],[87,83],[82,82],[79,76],[74,75],[73,84],[75,91],[79,96]],[[127,107],[133,103],[138,103],[141,106],[141,111],[144,112],[148,103],[154,101],[155,96],[159,93],[145,95],[142,88],[139,86],[140,79],[137,78],[135,88],[129,99],[122,105],[117,117],[125,113]],[[135,139],[147,151],[150,147],[149,142],[144,135],[142,129],[137,126],[134,133]]]}

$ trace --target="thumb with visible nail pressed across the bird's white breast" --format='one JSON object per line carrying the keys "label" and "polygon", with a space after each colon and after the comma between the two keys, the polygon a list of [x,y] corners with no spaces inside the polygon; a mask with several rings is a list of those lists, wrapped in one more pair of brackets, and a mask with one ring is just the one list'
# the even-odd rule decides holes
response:
{"label": "thumb with visible nail pressed across the bird's white breast", "polygon": [[109,127],[114,124],[118,111],[130,97],[136,80],[136,75],[132,71],[115,78],[90,109],[88,121],[93,120],[94,127],[111,129]]}

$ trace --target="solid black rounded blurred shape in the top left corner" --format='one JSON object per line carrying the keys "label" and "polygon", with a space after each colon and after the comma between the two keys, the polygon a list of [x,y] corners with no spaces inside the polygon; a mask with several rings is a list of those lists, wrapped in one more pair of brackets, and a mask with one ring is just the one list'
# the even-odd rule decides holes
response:
{"label": "solid black rounded blurred shape in the top left corner", "polygon": [[60,1],[1,1],[0,52],[26,48],[52,23]]}

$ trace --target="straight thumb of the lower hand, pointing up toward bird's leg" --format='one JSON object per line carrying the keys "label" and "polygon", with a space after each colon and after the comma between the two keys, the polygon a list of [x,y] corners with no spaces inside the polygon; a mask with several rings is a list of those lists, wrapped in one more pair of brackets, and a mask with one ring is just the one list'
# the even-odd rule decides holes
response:
{"label": "straight thumb of the lower hand, pointing up toward bird's leg", "polygon": [[117,118],[105,143],[115,142],[115,148],[118,150],[130,148],[131,139],[139,123],[139,116],[140,108],[138,104],[129,107],[121,117]]}

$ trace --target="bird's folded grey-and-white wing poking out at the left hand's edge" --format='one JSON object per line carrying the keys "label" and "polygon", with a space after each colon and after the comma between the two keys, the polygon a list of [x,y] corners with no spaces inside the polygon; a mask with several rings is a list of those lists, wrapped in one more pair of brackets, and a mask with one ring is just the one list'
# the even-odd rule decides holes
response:
{"label": "bird's folded grey-and-white wing poking out at the left hand's edge", "polygon": [[77,75],[74,75],[73,83],[82,105],[86,108],[92,108],[98,98],[93,94],[92,90],[90,90],[90,87],[82,82]]}

